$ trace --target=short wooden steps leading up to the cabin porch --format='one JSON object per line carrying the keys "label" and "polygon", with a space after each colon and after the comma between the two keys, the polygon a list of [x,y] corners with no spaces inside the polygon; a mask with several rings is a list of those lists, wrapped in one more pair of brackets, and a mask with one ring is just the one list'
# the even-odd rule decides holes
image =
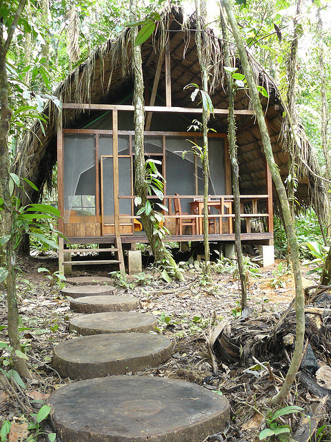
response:
{"label": "short wooden steps leading up to the cabin porch", "polygon": [[[106,249],[64,249],[63,240],[59,242],[60,250],[59,250],[59,271],[66,275],[66,273],[71,273],[73,265],[104,265],[104,264],[118,264],[119,271],[121,273],[125,273],[124,267],[124,257],[123,257],[123,249],[121,238],[117,236],[115,238],[115,247],[109,247]],[[117,254],[117,259],[112,260],[81,260],[81,261],[72,261],[72,253],[89,253],[91,251],[97,252],[112,252]]]}

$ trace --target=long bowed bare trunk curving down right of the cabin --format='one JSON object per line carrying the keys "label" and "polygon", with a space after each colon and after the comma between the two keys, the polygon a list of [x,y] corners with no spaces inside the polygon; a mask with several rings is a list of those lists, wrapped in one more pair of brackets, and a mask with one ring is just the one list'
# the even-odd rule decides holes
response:
{"label": "long bowed bare trunk curving down right of the cabin", "polygon": [[294,378],[299,369],[299,364],[301,361],[301,355],[303,351],[303,339],[305,334],[305,300],[303,296],[303,287],[301,279],[301,269],[299,260],[299,247],[297,243],[297,237],[295,235],[294,224],[292,220],[292,215],[290,211],[290,205],[288,203],[288,196],[286,195],[285,186],[281,180],[281,175],[277,164],[274,162],[274,156],[272,153],[272,146],[270,142],[270,137],[268,134],[268,128],[265,124],[265,119],[263,115],[263,109],[259,99],[259,92],[257,90],[257,85],[254,82],[254,77],[252,75],[252,69],[248,61],[248,56],[245,51],[245,46],[243,44],[243,39],[240,35],[239,27],[237,21],[234,17],[232,7],[229,0],[222,0],[223,6],[225,7],[226,13],[228,15],[230,25],[234,34],[234,39],[236,40],[237,48],[239,51],[239,57],[241,59],[241,64],[243,66],[243,72],[245,73],[245,78],[248,83],[248,88],[250,90],[250,98],[252,99],[252,104],[254,108],[255,115],[257,116],[257,122],[259,124],[261,140],[263,144],[263,149],[265,152],[265,157],[268,162],[270,172],[272,174],[272,180],[276,186],[277,193],[279,195],[279,200],[281,202],[281,210],[283,211],[283,217],[285,220],[285,231],[288,237],[288,243],[290,244],[290,251],[292,257],[292,269],[294,274],[294,285],[295,285],[295,311],[297,316],[297,327],[296,327],[296,340],[294,347],[294,354],[288,373],[286,374],[285,381],[281,387],[281,390],[272,398],[272,403],[281,403],[288,392]]}

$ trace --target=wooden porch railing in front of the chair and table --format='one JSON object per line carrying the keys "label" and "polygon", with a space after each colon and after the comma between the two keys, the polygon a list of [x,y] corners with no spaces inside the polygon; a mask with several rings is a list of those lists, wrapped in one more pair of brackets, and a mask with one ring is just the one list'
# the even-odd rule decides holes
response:
{"label": "wooden porch railing in front of the chair and table", "polygon": [[[119,199],[132,199],[132,196],[119,196]],[[160,202],[157,196],[148,197],[149,200],[155,200],[155,202]],[[173,200],[179,199],[181,205],[183,201],[189,200],[190,211],[185,211],[185,213],[175,213]],[[259,204],[263,202],[264,204]],[[266,222],[266,232],[273,232],[272,223],[272,200],[270,195],[241,195],[241,219],[245,220],[245,231],[246,233],[252,232],[252,220],[265,218]],[[168,207],[168,213],[163,211],[165,216],[165,227],[170,230],[173,235],[176,223],[179,222],[179,218],[182,220],[188,220],[194,218],[196,220],[197,229],[196,235],[203,234],[203,197],[201,195],[164,195],[162,204]],[[266,208],[266,211],[259,211],[259,205]],[[157,209],[157,206],[156,206]],[[234,220],[234,196],[233,195],[210,195],[208,197],[208,220],[210,224],[214,221],[214,227],[210,233],[214,234],[226,234],[233,233],[233,220]],[[161,209],[159,210],[161,211]],[[271,218],[271,219],[270,219]],[[134,222],[134,220],[139,220],[140,216],[137,215],[124,215],[121,214],[121,219],[126,219],[127,222]],[[189,228],[187,228],[189,229]],[[185,233],[186,234],[186,233]],[[192,234],[190,231],[189,234]]]}

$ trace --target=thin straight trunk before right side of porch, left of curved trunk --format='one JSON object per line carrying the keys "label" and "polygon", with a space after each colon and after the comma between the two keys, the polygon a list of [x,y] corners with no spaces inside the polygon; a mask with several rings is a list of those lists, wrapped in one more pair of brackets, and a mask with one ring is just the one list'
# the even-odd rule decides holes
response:
{"label": "thin straight trunk before right side of porch, left of curved trunk", "polygon": [[[225,18],[222,7],[220,7],[221,29],[223,36],[223,54],[225,65],[231,66],[230,50],[228,45],[228,32],[226,30]],[[226,72],[228,81],[228,97],[229,97],[229,117],[228,117],[228,140],[230,160],[232,167],[232,189],[234,195],[234,241],[237,256],[237,265],[239,271],[239,278],[241,283],[241,314],[247,307],[247,284],[246,275],[243,268],[243,252],[241,250],[241,220],[240,220],[240,193],[239,193],[239,164],[237,161],[237,146],[236,146],[236,122],[234,119],[234,90],[232,83],[232,75]],[[221,222],[221,219],[220,221]]]}

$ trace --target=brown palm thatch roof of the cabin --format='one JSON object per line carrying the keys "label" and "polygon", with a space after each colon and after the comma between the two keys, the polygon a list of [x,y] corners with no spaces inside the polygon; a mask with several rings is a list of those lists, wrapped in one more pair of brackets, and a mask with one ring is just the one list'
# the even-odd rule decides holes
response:
{"label": "brown palm thatch roof of the cabin", "polygon": [[[188,84],[201,84],[200,66],[196,46],[196,22],[192,18],[185,19],[183,11],[172,8],[164,12],[161,21],[152,37],[141,46],[143,72],[146,81],[152,86],[157,70],[159,54],[165,43],[170,45],[171,53],[171,88],[172,106],[197,107],[192,102],[192,90],[185,88]],[[225,71],[223,69],[222,41],[214,36],[212,30],[203,33],[205,46],[210,56],[210,77],[212,85],[210,96],[214,108],[228,108]],[[93,104],[132,104],[132,68],[131,68],[130,30],[125,30],[116,40],[108,40],[99,47],[86,61],[78,66],[59,85],[54,95],[66,103]],[[240,70],[239,60],[233,53],[233,65]],[[288,153],[283,137],[283,108],[276,93],[276,88],[259,66],[252,61],[252,68],[257,83],[263,85],[269,97],[263,97],[262,104],[268,118],[270,137],[274,158],[285,181],[288,177]],[[164,104],[165,97],[165,66],[161,68],[156,105]],[[245,89],[237,90],[235,109],[250,108],[250,97]],[[48,117],[46,133],[36,122],[32,131],[26,133],[21,144],[19,155],[14,163],[14,171],[21,177],[28,177],[39,189],[43,188],[57,162],[57,108],[48,102],[45,115]],[[64,128],[81,128],[90,119],[94,119],[95,111],[63,111]],[[186,122],[192,115],[186,115]],[[228,128],[227,115],[215,115],[210,126],[219,133],[226,133]],[[186,123],[186,127],[188,124]],[[170,131],[170,128],[165,128]],[[178,130],[178,128],[174,128]],[[184,129],[185,130],[185,129]],[[296,159],[298,166],[299,186],[297,199],[300,207],[313,204],[315,208],[325,207],[325,189],[319,175],[319,165],[312,146],[308,143],[305,133],[298,128],[301,148]],[[240,191],[243,194],[265,193],[265,157],[261,144],[259,127],[250,115],[237,116],[237,145],[240,164]],[[301,161],[303,159],[303,161]],[[38,198],[37,193],[28,189],[32,201]]]}

